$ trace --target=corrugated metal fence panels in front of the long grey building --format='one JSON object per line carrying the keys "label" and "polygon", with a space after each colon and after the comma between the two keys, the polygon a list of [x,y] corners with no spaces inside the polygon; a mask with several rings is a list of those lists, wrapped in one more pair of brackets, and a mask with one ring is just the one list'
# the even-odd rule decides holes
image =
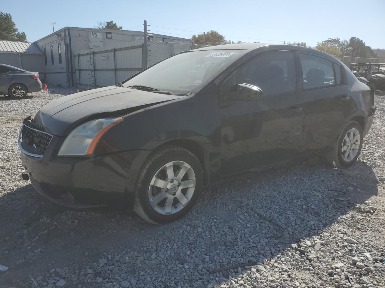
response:
{"label": "corrugated metal fence panels in front of the long grey building", "polygon": [[74,53],[79,86],[109,86],[142,70],[143,41],[81,50]]}

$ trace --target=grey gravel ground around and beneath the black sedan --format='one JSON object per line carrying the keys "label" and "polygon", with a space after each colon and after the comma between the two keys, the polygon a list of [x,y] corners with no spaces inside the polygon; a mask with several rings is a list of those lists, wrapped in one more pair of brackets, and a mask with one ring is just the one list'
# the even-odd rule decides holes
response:
{"label": "grey gravel ground around and beneath the black sedan", "polygon": [[350,169],[318,157],[229,179],[156,226],[130,211],[66,211],[21,180],[22,119],[75,92],[51,89],[0,97],[1,288],[385,286],[385,94]]}

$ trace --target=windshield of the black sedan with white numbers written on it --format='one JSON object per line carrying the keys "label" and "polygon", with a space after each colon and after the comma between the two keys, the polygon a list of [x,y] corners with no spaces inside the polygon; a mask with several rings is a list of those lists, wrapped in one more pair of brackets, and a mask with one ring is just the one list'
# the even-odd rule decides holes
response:
{"label": "windshield of the black sedan with white numbers written on it", "polygon": [[232,62],[243,50],[204,50],[168,58],[123,82],[123,87],[146,86],[186,95]]}

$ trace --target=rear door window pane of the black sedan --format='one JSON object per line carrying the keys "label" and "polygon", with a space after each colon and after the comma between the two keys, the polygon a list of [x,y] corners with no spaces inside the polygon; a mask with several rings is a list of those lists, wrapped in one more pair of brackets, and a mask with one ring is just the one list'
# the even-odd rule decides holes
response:
{"label": "rear door window pane of the black sedan", "polygon": [[303,89],[334,85],[333,63],[324,58],[299,54],[303,73]]}

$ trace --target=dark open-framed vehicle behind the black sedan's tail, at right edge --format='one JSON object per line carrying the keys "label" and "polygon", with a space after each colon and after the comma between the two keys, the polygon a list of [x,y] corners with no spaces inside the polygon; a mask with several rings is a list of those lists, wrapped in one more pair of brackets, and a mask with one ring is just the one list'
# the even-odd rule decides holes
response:
{"label": "dark open-framed vehicle behind the black sedan's tail, at right edge", "polygon": [[352,63],[350,71],[367,79],[373,90],[385,91],[385,63]]}

